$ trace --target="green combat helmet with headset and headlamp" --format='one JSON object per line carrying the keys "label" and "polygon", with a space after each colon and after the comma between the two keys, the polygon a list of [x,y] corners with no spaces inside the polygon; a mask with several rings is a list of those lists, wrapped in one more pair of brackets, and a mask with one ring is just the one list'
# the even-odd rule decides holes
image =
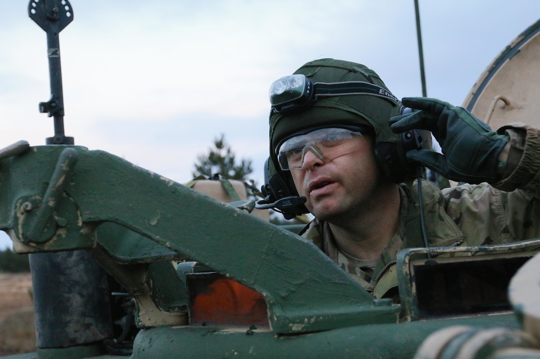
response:
{"label": "green combat helmet with headset and headlamp", "polygon": [[[368,67],[349,61],[320,59],[293,75],[274,81],[270,88],[270,157],[267,197],[262,203],[285,218],[307,213],[291,174],[280,169],[275,149],[289,137],[325,127],[363,127],[373,130],[375,158],[382,173],[395,183],[416,177],[416,165],[407,162],[409,150],[431,148],[427,131],[395,134],[389,119],[410,109]],[[272,206],[273,205],[273,206]]]}

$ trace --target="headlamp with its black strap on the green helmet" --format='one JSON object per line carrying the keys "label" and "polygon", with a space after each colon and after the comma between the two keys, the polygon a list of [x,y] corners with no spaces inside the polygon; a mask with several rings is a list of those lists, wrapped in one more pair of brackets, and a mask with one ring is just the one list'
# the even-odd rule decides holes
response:
{"label": "headlamp with its black strap on the green helmet", "polygon": [[270,103],[274,112],[286,112],[301,108],[319,96],[374,95],[399,105],[399,100],[386,88],[365,81],[315,82],[306,75],[294,74],[282,77],[270,85]]}

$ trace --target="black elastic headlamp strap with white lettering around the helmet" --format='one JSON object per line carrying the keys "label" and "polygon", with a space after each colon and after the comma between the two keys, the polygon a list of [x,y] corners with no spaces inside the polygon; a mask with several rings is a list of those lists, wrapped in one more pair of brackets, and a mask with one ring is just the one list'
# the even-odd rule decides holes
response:
{"label": "black elastic headlamp strap with white lettering around the helmet", "polygon": [[341,96],[341,95],[375,95],[389,100],[395,105],[400,101],[386,88],[370,84],[365,81],[346,82],[315,82],[313,84],[315,96]]}

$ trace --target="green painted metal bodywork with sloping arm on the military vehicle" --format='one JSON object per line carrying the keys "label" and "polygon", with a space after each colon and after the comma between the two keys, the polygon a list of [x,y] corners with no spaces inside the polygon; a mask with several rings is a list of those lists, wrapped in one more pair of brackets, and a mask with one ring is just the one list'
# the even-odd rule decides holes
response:
{"label": "green painted metal bodywork with sloping arm on the military vehicle", "polygon": [[[531,240],[487,248],[412,248],[400,256],[400,279],[409,284],[402,284],[403,303],[395,305],[373,299],[296,234],[104,151],[22,143],[0,151],[0,158],[0,226],[15,250],[89,252],[137,302],[137,324],[144,329],[133,357],[184,351],[187,357],[211,357],[230,350],[248,355],[252,349],[266,357],[289,351],[303,357],[408,357],[431,332],[449,325],[518,328],[508,310],[415,320],[410,258],[426,258],[428,251],[452,252],[455,258],[478,251],[510,257],[540,246]],[[185,259],[261,293],[270,327],[190,325],[185,281],[171,263]],[[319,352],[320,343],[327,344]]]}

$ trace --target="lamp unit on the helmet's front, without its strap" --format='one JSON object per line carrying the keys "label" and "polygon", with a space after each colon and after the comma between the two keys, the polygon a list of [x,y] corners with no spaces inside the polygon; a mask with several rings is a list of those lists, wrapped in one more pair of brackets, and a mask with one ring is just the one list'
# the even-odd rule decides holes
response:
{"label": "lamp unit on the helmet's front, without its strap", "polygon": [[303,105],[313,94],[313,84],[305,75],[282,77],[270,85],[270,103],[276,111],[284,107]]}

